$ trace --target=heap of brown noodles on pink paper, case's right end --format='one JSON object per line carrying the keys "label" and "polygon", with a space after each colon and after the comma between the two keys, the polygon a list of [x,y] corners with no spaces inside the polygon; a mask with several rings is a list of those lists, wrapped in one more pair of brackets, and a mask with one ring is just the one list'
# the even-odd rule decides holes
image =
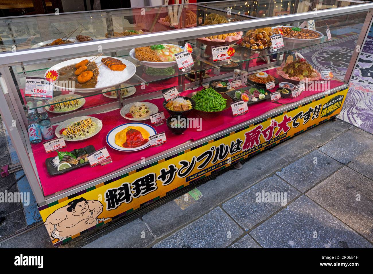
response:
{"label": "heap of brown noodles on pink paper, case's right end", "polygon": [[295,61],[284,63],[276,68],[277,73],[284,79],[294,80],[297,82],[319,80],[321,74],[315,70],[304,58],[297,58]]}

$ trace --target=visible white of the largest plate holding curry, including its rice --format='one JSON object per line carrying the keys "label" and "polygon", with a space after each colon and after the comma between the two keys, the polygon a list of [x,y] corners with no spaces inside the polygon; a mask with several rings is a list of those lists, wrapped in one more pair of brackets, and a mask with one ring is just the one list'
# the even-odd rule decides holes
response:
{"label": "visible white of the largest plate holding curry, including its rice", "polygon": [[[111,57],[111,56],[100,56],[100,57],[98,57],[95,60],[95,63],[97,64],[97,66],[100,66],[101,59],[106,58],[106,57]],[[70,59],[70,60],[63,61],[61,63],[58,63],[58,64],[54,65],[53,67],[49,68],[47,71],[49,71],[49,70],[56,70],[57,71],[60,68],[79,63],[80,61],[83,61],[85,59],[90,60],[90,59],[93,59],[93,58],[95,58],[95,56],[86,56],[86,57]],[[79,88],[72,89],[70,87],[65,87],[65,86],[57,86],[57,87],[59,87],[60,89],[63,89],[63,90],[71,90],[71,91],[75,91],[75,92],[85,93],[85,92],[93,92],[93,91],[96,91],[96,90],[108,89],[110,87],[113,87],[113,86],[119,85],[123,82],[126,82],[128,79],[131,79],[131,77],[134,76],[134,74],[136,73],[136,66],[131,61],[128,61],[128,60],[125,60],[125,59],[122,59],[122,58],[118,58],[118,57],[114,57],[114,58],[122,61],[122,63],[126,65],[126,68],[123,71],[110,70],[110,68],[108,68],[106,65],[102,65],[100,68],[98,68],[99,71],[110,70],[110,72],[113,73],[114,76],[115,75],[118,76],[118,77],[113,77],[117,80],[113,83],[110,83],[110,85],[102,86],[102,87],[97,87],[97,85],[96,85],[96,87],[92,87],[92,88],[89,88],[89,89],[79,89]],[[47,75],[47,71],[46,71],[46,74],[44,75],[44,77]],[[100,75],[98,77],[100,77]],[[57,83],[58,83],[58,78],[57,78]]]}

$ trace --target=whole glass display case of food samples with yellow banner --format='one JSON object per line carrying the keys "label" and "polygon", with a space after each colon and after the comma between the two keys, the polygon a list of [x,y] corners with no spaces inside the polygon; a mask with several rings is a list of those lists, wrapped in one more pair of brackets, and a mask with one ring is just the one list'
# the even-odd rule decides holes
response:
{"label": "whole glass display case of food samples with yellow banner", "polygon": [[[1,118],[54,245],[335,117],[372,7],[217,1],[3,17]],[[85,204],[89,222],[58,229],[56,214]]]}

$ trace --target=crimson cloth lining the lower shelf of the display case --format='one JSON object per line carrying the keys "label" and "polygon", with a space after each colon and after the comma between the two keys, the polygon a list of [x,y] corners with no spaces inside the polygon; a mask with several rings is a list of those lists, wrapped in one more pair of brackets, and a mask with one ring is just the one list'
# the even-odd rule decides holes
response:
{"label": "crimson cloth lining the lower shelf of the display case", "polygon": [[[279,77],[276,74],[276,69],[273,68],[271,70],[267,70],[268,74],[271,74],[274,77]],[[279,77],[280,78],[280,77]],[[279,79],[279,82],[285,82],[285,79]],[[174,83],[170,81],[167,83],[167,86],[172,86]],[[342,82],[332,80],[330,81],[330,88],[333,89],[334,87],[342,85]],[[152,85],[153,86],[153,85]],[[156,89],[164,89],[165,86],[162,85],[154,85]],[[275,91],[276,86],[273,90]],[[138,89],[139,87],[137,87]],[[195,90],[185,90],[181,93],[182,96],[188,96],[189,93],[201,90],[202,87],[198,87]],[[272,109],[278,108],[283,104],[293,103],[300,101],[301,99],[314,95],[316,93],[320,93],[324,90],[314,90],[314,91],[304,91],[301,93],[300,96],[297,98],[282,98],[276,102],[264,101],[258,102],[254,105],[249,106],[249,112],[245,115],[236,116],[233,118],[231,109],[227,109],[226,111],[220,112],[219,115],[216,114],[204,114],[203,112],[198,112],[193,110],[188,117],[191,118],[201,118],[202,127],[201,131],[198,131],[197,128],[188,128],[183,134],[175,135],[173,134],[169,128],[167,127],[166,123],[160,125],[158,127],[154,127],[157,133],[165,132],[167,143],[164,143],[162,146],[159,147],[147,147],[143,150],[136,151],[136,152],[121,152],[112,149],[106,143],[106,136],[107,133],[112,130],[112,128],[121,125],[133,122],[131,120],[127,120],[120,115],[120,109],[116,109],[114,111],[106,112],[104,114],[92,114],[90,116],[96,117],[100,119],[103,123],[103,128],[101,129],[100,133],[95,135],[92,138],[83,141],[66,141],[67,147],[64,149],[66,151],[72,151],[73,149],[79,149],[88,145],[93,145],[95,149],[101,149],[102,147],[106,146],[107,150],[112,157],[113,162],[104,166],[97,165],[91,168],[89,165],[84,166],[82,168],[78,168],[61,175],[50,176],[47,172],[45,161],[49,157],[57,156],[57,152],[46,153],[42,143],[39,144],[31,144],[32,152],[34,154],[36,167],[38,170],[38,175],[41,181],[41,185],[43,188],[44,195],[50,195],[62,191],[64,189],[79,185],[84,182],[91,181],[93,179],[97,179],[103,177],[111,172],[117,171],[118,169],[122,169],[132,163],[140,161],[141,159],[150,159],[152,156],[163,153],[166,150],[172,149],[176,146],[179,146],[186,141],[197,141],[204,137],[211,136],[212,134],[219,133],[223,130],[231,128],[235,125],[238,125],[242,122],[251,120],[255,117],[258,117]],[[96,97],[96,96],[93,96]],[[103,95],[97,95],[98,99],[102,99]],[[92,99],[92,100],[98,100]],[[107,98],[109,99],[109,98]],[[164,115],[166,119],[170,116],[166,109],[163,108],[163,98],[162,99],[152,99],[152,100],[145,100],[147,102],[154,103],[158,106],[159,111],[164,111]],[[151,124],[150,120],[139,121],[145,124]],[[56,128],[56,126],[54,126]],[[143,158],[144,157],[144,158]]]}

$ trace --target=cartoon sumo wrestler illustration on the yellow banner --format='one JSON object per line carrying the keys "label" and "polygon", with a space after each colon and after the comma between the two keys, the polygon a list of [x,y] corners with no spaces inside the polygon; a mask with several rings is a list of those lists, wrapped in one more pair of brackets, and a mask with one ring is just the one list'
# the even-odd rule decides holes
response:
{"label": "cartoon sumo wrestler illustration on the yellow banner", "polygon": [[87,201],[81,197],[58,208],[47,217],[44,224],[53,241],[55,239],[63,241],[109,219],[97,218],[102,209],[103,205],[99,201]]}

